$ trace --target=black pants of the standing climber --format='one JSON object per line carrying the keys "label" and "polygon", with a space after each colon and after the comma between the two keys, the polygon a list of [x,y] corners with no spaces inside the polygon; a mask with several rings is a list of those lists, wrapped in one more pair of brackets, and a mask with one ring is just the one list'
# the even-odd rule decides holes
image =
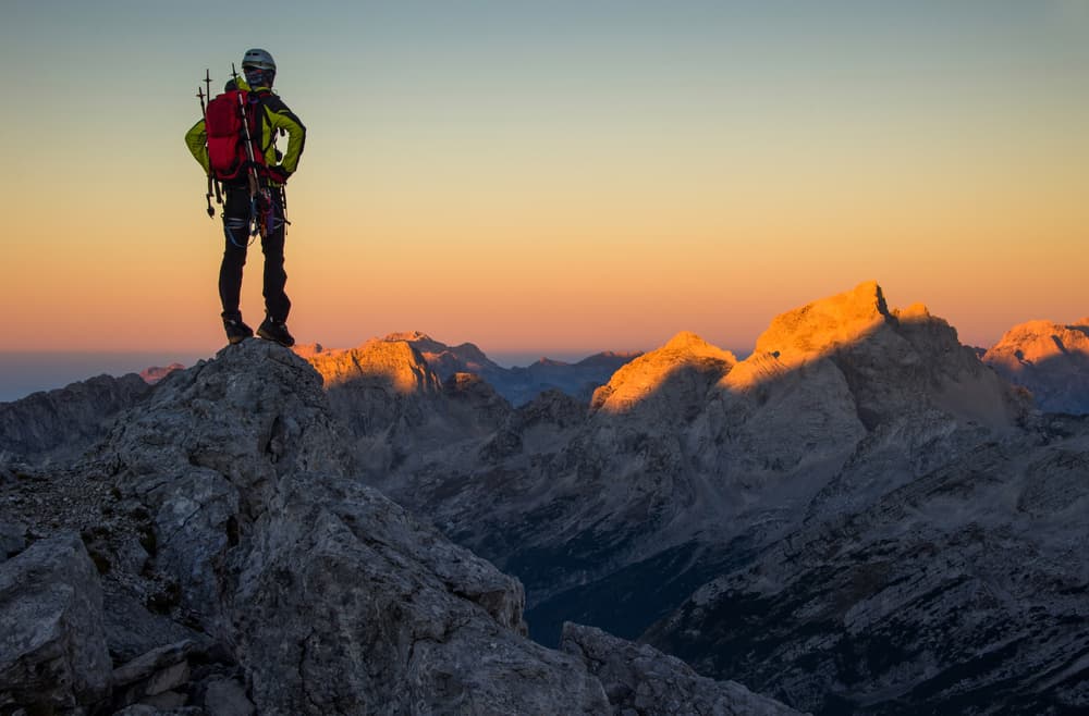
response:
{"label": "black pants of the standing climber", "polygon": [[[238,301],[242,294],[242,268],[246,266],[246,248],[249,244],[250,202],[249,189],[245,186],[224,187],[227,200],[223,205],[223,233],[225,248],[223,263],[219,267],[219,298],[223,303],[223,318],[240,318]],[[272,220],[261,250],[265,252],[265,311],[274,321],[286,321],[291,311],[291,300],[283,292],[287,274],[283,270],[284,221],[280,193],[272,193]]]}

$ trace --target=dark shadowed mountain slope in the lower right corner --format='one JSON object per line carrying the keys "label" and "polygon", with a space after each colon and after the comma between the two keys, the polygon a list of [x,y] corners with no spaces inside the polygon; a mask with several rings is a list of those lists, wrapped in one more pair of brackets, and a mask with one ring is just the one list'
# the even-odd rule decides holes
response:
{"label": "dark shadowed mountain slope in the lower right corner", "polygon": [[1085,709],[1089,433],[1065,428],[788,535],[647,639],[816,714]]}

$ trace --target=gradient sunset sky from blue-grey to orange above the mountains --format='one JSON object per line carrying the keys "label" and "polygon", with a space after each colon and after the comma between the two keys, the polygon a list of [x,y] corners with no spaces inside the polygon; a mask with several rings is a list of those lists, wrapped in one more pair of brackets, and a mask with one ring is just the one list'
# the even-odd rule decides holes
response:
{"label": "gradient sunset sky from blue-grey to orange above the mountains", "polygon": [[0,350],[223,345],[183,135],[249,47],[303,343],[744,353],[871,279],[975,345],[1089,314],[1089,0],[7,0]]}

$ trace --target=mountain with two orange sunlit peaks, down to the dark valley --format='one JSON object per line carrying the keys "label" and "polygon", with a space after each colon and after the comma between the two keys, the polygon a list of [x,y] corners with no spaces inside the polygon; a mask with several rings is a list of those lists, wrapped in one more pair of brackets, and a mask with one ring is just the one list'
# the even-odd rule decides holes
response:
{"label": "mountain with two orange sunlit peaks, down to the dark valley", "polygon": [[1026,407],[945,321],[890,310],[871,282],[775,319],[746,360],[682,333],[588,409],[490,412],[476,449],[409,431],[412,457],[374,480],[517,575],[547,643],[567,619],[635,635],[805,520],[1017,432]]}

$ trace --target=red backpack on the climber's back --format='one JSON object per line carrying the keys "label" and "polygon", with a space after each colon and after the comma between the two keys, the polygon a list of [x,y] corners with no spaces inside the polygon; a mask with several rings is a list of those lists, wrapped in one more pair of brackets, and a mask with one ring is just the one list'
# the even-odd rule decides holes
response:
{"label": "red backpack on the climber's back", "polygon": [[[258,175],[265,174],[260,110],[260,95],[243,89],[229,89],[208,102],[205,113],[208,160],[212,176],[220,182],[242,178],[250,166]],[[247,125],[254,157],[252,164],[246,151]]]}

